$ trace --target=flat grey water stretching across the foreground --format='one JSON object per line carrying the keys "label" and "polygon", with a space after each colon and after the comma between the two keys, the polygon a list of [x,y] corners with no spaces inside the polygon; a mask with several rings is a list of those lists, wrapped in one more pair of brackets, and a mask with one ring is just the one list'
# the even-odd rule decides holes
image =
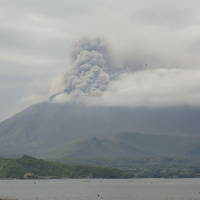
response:
{"label": "flat grey water stretching across the foreground", "polygon": [[200,179],[0,180],[19,200],[200,200]]}

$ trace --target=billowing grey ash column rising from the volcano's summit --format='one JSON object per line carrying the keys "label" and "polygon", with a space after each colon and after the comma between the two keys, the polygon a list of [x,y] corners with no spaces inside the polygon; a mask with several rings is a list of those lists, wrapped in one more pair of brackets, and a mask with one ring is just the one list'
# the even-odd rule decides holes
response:
{"label": "billowing grey ash column rising from the volcano's summit", "polygon": [[53,101],[74,101],[97,97],[113,78],[111,56],[102,39],[81,39],[71,52],[72,69],[64,76],[64,91],[51,96]]}

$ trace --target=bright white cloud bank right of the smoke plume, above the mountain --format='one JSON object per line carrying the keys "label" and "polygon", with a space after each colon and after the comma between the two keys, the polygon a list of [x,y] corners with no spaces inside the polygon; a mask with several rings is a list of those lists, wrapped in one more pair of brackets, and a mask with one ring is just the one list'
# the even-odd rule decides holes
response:
{"label": "bright white cloud bank right of the smoke plume, above the mountain", "polygon": [[153,69],[123,74],[101,103],[117,106],[200,105],[200,70]]}

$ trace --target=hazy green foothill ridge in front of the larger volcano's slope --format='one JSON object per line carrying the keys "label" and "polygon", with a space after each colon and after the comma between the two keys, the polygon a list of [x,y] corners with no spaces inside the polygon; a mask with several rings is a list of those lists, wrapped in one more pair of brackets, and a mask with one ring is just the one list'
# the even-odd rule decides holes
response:
{"label": "hazy green foothill ridge in front of the larger volcano's slope", "polygon": [[200,154],[193,154],[193,150],[199,147],[199,142],[199,137],[120,133],[67,143],[48,154],[51,155],[49,158],[61,157],[62,160],[72,161],[138,157],[198,158]]}

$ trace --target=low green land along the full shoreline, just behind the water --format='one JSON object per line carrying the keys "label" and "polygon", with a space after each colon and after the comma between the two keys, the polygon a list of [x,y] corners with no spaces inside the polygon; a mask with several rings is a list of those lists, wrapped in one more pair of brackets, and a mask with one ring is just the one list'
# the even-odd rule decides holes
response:
{"label": "low green land along the full shoreline, just behind the water", "polygon": [[0,159],[0,178],[200,178],[200,162],[180,158],[137,158],[135,168],[63,164],[23,156]]}

